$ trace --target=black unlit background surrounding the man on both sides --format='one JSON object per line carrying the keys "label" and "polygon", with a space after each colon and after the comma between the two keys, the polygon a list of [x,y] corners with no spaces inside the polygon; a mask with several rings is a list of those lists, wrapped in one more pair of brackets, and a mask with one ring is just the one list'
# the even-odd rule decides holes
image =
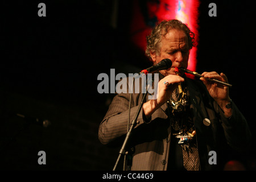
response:
{"label": "black unlit background surrounding the man on both sides", "polygon": [[[97,92],[97,76],[150,66],[130,39],[133,1],[42,1],[46,17],[38,16],[40,2],[0,6],[0,168],[112,170],[119,148],[102,145],[97,133],[113,94]],[[208,15],[211,2],[217,17]],[[230,97],[255,139],[254,23],[249,1],[200,3],[197,72],[228,76]],[[26,125],[16,113],[49,119],[51,126]],[[41,150],[46,165],[38,164]],[[230,159],[255,170],[255,151],[253,141],[249,154]]]}

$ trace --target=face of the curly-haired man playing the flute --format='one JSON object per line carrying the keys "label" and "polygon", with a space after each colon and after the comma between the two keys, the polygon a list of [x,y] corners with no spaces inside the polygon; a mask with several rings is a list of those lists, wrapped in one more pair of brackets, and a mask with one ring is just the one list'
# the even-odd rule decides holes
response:
{"label": "face of the curly-haired man playing the flute", "polygon": [[163,76],[176,75],[175,68],[188,67],[188,38],[181,30],[171,29],[166,36],[162,36],[162,46],[160,46],[159,55],[150,53],[154,64],[158,64],[163,59],[170,59],[172,67],[159,71]]}

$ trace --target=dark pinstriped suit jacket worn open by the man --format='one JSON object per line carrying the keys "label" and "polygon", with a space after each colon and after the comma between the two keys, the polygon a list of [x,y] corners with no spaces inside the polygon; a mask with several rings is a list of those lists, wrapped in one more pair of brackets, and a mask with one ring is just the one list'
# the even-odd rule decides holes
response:
{"label": "dark pinstriped suit jacket worn open by the man", "polygon": [[[223,154],[229,154],[232,150],[241,152],[248,149],[251,134],[246,119],[234,102],[232,116],[226,118],[201,81],[185,78],[185,82],[196,127],[200,169],[221,169]],[[137,113],[142,96],[141,93],[132,94],[130,123]],[[129,93],[117,94],[113,98],[98,131],[98,138],[102,144],[122,146],[127,133],[129,100]],[[129,140],[129,146],[135,148],[131,170],[163,171],[167,169],[171,142],[170,114],[166,103],[152,114],[148,122],[143,119],[141,110]],[[203,124],[204,118],[210,120],[209,126]],[[231,150],[225,149],[229,147]],[[209,164],[209,151],[216,151],[217,165]]]}

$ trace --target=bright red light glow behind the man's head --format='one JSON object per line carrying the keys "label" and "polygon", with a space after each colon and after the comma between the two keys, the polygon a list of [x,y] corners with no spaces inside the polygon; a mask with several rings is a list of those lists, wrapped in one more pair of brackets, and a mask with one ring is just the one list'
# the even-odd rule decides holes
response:
{"label": "bright red light glow behind the man's head", "polygon": [[[142,10],[147,11],[142,11]],[[141,49],[146,49],[146,35],[156,22],[166,19],[178,19],[187,24],[195,33],[196,42],[199,39],[197,31],[199,0],[159,0],[148,1],[144,5],[139,5],[134,1],[133,24],[131,25],[132,41]],[[196,71],[197,47],[193,47],[189,54],[188,69]]]}

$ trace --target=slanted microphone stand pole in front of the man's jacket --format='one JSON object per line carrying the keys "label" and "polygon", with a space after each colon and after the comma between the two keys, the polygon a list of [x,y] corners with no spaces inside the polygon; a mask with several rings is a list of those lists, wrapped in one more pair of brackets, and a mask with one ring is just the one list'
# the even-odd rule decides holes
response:
{"label": "slanted microphone stand pole in front of the man's jacket", "polygon": [[118,158],[117,158],[117,162],[115,162],[115,166],[114,166],[114,168],[113,168],[113,171],[115,171],[115,169],[117,168],[117,165],[118,165],[118,163],[119,163],[119,160],[121,159],[121,156],[122,156],[123,154],[125,154],[125,147],[126,147],[126,144],[127,144],[128,140],[130,139],[130,136],[131,136],[131,134],[132,134],[132,131],[133,131],[133,129],[134,129],[136,123],[137,123],[137,119],[138,119],[138,117],[139,117],[139,113],[141,112],[142,105],[143,105],[144,101],[146,100],[146,95],[147,95],[147,90],[146,90],[146,93],[144,93],[144,95],[143,95],[141,104],[139,104],[139,108],[138,108],[138,110],[137,110],[137,113],[136,113],[136,115],[135,115],[133,121],[131,121],[131,127],[130,127],[129,131],[128,131],[127,134],[126,134],[126,138],[125,138],[125,140],[124,140],[124,142],[123,142],[123,146],[122,146],[121,150],[119,151],[119,155],[118,155]]}

